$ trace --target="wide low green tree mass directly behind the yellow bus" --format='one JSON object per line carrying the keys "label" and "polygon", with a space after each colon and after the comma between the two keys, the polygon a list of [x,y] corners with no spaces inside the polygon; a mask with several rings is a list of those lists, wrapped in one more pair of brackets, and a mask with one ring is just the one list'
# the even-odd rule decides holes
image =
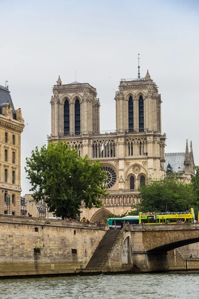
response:
{"label": "wide low green tree mass directly behind the yellow bus", "polygon": [[180,182],[175,174],[163,180],[149,180],[139,192],[138,209],[142,212],[187,211],[197,206],[192,184]]}

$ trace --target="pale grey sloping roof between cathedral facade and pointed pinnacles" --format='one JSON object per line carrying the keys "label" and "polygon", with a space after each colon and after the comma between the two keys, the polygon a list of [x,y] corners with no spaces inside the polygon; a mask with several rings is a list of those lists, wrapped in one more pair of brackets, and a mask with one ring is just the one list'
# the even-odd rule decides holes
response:
{"label": "pale grey sloping roof between cathedral facade and pointed pinnacles", "polygon": [[179,172],[185,170],[185,152],[168,152],[165,153],[165,167],[167,170],[168,164],[171,165],[173,171]]}

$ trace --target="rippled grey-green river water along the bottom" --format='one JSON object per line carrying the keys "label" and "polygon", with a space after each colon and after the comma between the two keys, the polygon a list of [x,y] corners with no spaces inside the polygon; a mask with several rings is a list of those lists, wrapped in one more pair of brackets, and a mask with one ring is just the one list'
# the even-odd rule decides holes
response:
{"label": "rippled grey-green river water along the bottom", "polygon": [[125,274],[0,280],[0,299],[199,298],[199,273]]}

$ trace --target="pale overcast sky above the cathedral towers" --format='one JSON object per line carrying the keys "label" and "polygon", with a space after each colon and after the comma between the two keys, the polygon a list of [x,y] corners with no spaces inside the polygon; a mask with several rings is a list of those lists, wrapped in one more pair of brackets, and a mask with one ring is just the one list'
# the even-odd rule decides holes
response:
{"label": "pale overcast sky above the cathedral towers", "polygon": [[0,85],[8,81],[14,108],[25,120],[24,170],[31,150],[51,134],[50,99],[58,76],[97,88],[100,130],[115,129],[115,91],[121,78],[147,69],[162,96],[166,152],[193,142],[199,165],[198,0],[0,0]]}

